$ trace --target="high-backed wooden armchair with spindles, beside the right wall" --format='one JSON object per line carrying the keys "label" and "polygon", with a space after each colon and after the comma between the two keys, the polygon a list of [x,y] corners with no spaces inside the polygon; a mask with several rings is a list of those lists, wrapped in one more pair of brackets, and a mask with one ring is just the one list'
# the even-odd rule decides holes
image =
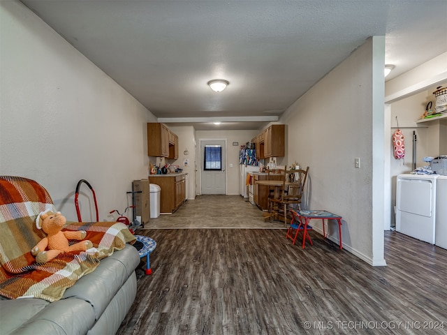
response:
{"label": "high-backed wooden armchair with spindles, beside the right wall", "polygon": [[[285,225],[287,225],[288,207],[295,204],[295,209],[301,209],[300,204],[302,195],[305,191],[308,172],[309,167],[307,167],[306,170],[284,170],[281,195],[277,199],[270,200],[271,213],[274,212],[275,215],[282,214],[284,216]],[[270,217],[272,216],[274,215],[271,215]]]}

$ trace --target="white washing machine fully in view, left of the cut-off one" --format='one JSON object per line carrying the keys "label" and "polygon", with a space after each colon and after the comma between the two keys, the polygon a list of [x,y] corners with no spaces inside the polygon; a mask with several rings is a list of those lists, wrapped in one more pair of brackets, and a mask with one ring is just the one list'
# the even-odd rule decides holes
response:
{"label": "white washing machine fully in view, left of the cut-off one", "polygon": [[439,174],[399,174],[396,231],[434,244]]}

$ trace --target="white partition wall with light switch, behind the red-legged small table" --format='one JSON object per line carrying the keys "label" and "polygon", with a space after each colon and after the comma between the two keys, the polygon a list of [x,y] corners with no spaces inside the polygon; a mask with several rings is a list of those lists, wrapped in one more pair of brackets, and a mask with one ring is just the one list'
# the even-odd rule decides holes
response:
{"label": "white partition wall with light switch, behind the red-legged small table", "polygon": [[[279,120],[288,124],[288,163],[309,166],[302,208],[342,215],[344,248],[372,265],[386,264],[383,204],[377,204],[378,196],[383,201],[383,64],[384,38],[370,38]],[[321,223],[313,226],[321,230]],[[335,224],[329,234],[338,240]]]}

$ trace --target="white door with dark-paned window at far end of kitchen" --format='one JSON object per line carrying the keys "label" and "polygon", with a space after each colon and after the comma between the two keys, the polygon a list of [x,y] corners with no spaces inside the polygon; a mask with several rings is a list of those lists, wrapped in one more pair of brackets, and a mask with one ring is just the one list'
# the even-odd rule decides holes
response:
{"label": "white door with dark-paned window at far end of kitchen", "polygon": [[202,172],[202,194],[226,194],[225,156],[225,141],[200,141],[200,170]]}

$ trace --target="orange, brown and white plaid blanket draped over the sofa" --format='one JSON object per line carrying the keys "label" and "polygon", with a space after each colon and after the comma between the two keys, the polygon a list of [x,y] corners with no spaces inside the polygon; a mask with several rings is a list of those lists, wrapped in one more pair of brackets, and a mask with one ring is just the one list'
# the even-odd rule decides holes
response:
{"label": "orange, brown and white plaid blanket draped over the sofa", "polygon": [[94,248],[62,253],[44,264],[31,254],[45,232],[36,228],[37,215],[54,205],[45,188],[22,177],[0,177],[0,295],[10,299],[61,299],[67,288],[99,265],[102,258],[124,248],[135,237],[123,223],[75,222],[64,230],[85,230]]}

